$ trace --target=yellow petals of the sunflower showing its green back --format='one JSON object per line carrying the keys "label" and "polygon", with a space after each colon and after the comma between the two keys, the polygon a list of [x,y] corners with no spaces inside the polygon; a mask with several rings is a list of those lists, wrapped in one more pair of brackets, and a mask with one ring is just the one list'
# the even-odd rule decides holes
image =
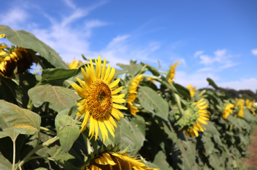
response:
{"label": "yellow petals of the sunflower showing its green back", "polygon": [[[204,132],[204,125],[208,124],[206,120],[210,120],[210,116],[207,113],[210,113],[206,109],[209,108],[208,104],[206,104],[206,101],[204,101],[204,98],[199,100],[198,102],[194,102],[194,105],[197,106],[197,122],[195,124],[191,125],[189,129],[184,129],[185,135],[194,135],[197,137],[199,135],[198,131]],[[190,135],[189,135],[190,134]]]}

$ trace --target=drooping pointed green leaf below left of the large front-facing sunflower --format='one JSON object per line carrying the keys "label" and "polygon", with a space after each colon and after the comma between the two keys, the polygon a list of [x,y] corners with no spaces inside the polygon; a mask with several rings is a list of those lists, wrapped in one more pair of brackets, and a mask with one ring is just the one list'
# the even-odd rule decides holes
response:
{"label": "drooping pointed green leaf below left of the large front-facing sunflower", "polygon": [[61,127],[58,131],[58,136],[60,138],[60,146],[62,146],[65,153],[72,148],[72,145],[80,135],[80,128],[77,123],[77,120],[73,120],[68,115],[63,115],[59,119],[59,126]]}

